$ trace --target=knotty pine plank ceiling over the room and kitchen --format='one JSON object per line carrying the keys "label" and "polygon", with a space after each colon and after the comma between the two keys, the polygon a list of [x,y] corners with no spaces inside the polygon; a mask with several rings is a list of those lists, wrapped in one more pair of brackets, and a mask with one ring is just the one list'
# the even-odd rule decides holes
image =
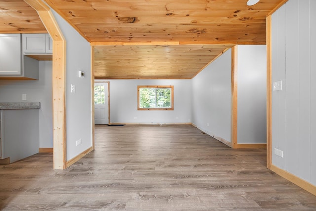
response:
{"label": "knotty pine plank ceiling over the room and kitchen", "polygon": [[[234,44],[265,44],[283,0],[44,1],[93,46],[95,78],[187,79]],[[1,33],[42,30],[23,0],[0,2]]]}

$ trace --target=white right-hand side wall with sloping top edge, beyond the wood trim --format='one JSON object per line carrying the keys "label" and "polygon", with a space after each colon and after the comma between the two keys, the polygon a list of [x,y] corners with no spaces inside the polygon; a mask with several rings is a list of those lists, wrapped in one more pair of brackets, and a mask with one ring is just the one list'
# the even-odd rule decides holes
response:
{"label": "white right-hand side wall with sloping top edge, beyond the wood trim", "polygon": [[231,50],[226,51],[192,79],[192,123],[228,142],[231,142],[231,54]]}

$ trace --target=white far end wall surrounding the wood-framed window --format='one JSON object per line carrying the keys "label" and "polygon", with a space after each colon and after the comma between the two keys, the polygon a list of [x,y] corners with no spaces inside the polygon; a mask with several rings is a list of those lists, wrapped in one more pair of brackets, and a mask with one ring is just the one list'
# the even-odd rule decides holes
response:
{"label": "white far end wall surrounding the wood-framed window", "polygon": [[[111,123],[190,123],[191,80],[107,80]],[[138,111],[138,85],[173,85],[173,111]],[[136,119],[135,119],[136,118]]]}

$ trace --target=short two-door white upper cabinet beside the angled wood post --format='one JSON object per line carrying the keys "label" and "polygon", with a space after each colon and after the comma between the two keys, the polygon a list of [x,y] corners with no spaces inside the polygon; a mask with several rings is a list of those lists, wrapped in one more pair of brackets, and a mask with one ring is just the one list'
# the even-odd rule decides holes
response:
{"label": "short two-door white upper cabinet beside the angled wood post", "polygon": [[52,40],[47,33],[22,34],[22,53],[52,53]]}

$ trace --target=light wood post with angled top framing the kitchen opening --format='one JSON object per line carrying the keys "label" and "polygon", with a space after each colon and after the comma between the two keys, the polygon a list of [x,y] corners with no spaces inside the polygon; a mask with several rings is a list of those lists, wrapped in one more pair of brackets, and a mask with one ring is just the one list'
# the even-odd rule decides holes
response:
{"label": "light wood post with angled top framing the kitchen opening", "polygon": [[66,41],[46,4],[41,0],[24,1],[37,11],[53,40],[53,168],[66,169]]}

